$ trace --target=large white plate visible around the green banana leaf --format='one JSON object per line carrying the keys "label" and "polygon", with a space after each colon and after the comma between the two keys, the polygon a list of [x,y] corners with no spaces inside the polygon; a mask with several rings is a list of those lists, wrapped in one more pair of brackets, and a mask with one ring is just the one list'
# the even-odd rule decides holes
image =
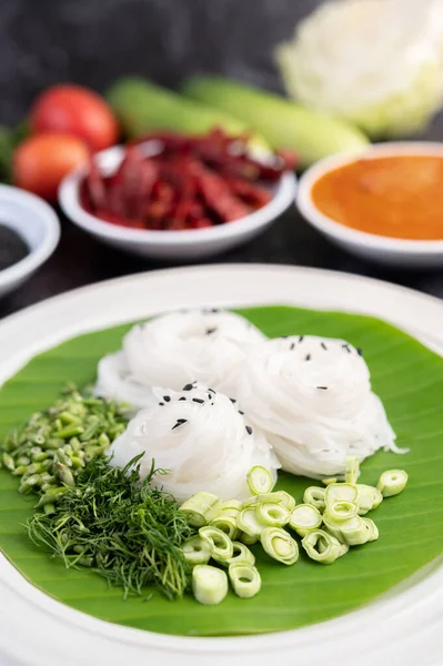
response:
{"label": "large white plate visible around the green banana leaf", "polygon": [[[175,307],[258,304],[373,314],[443,350],[443,303],[431,296],[329,271],[201,266],[99,283],[10,316],[0,323],[0,383],[36,353],[81,332]],[[441,666],[442,558],[345,616],[238,638],[174,637],[95,619],[41,593],[0,558],[1,666],[264,666],[270,660],[291,666]]]}

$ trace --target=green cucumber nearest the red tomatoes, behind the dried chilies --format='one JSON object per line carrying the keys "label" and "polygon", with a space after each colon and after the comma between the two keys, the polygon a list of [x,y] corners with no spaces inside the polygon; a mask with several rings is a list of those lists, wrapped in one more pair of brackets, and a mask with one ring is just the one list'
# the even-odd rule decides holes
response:
{"label": "green cucumber nearest the red tomatoes, behind the dried chilies", "polygon": [[[120,79],[105,97],[130,139],[157,130],[203,134],[220,127],[232,135],[248,130],[248,124],[224,111],[193,102],[142,78]],[[256,142],[265,145],[260,139]]]}

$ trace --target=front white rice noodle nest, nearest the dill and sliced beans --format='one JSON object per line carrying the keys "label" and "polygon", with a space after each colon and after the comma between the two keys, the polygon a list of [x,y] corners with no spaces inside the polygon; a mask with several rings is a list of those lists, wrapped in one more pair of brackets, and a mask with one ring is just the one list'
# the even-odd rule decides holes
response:
{"label": "front white rice noodle nest, nearest the dill and sliced beans", "polygon": [[152,460],[167,470],[154,483],[179,503],[199,491],[221,500],[245,498],[250,493],[246,474],[263,465],[276,478],[280,464],[259,427],[245,422],[238,403],[201,384],[174,392],[155,389],[157,401],[141,410],[112,446],[112,465],[123,467],[135,455],[141,477]]}

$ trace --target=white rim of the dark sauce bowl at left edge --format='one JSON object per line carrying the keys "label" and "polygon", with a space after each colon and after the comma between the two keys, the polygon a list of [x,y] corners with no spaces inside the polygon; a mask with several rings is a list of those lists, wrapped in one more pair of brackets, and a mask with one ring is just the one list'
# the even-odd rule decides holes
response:
{"label": "white rim of the dark sauce bowl at left edge", "polygon": [[3,289],[36,271],[52,254],[60,240],[60,223],[52,208],[36,194],[11,185],[0,185],[0,199],[20,201],[44,226],[44,235],[39,245],[12,266],[0,271],[0,289]]}

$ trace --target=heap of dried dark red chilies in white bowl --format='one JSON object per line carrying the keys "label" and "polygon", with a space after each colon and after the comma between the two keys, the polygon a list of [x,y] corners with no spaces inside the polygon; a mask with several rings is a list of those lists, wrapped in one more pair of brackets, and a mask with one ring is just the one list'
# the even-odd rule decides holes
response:
{"label": "heap of dried dark red chilies in white bowl", "polygon": [[295,158],[280,151],[265,161],[248,148],[248,135],[229,137],[220,129],[189,137],[157,132],[144,139],[161,151],[143,155],[131,143],[117,171],[101,175],[91,162],[80,188],[83,208],[111,224],[134,229],[205,229],[232,222],[265,205],[275,182]]}

